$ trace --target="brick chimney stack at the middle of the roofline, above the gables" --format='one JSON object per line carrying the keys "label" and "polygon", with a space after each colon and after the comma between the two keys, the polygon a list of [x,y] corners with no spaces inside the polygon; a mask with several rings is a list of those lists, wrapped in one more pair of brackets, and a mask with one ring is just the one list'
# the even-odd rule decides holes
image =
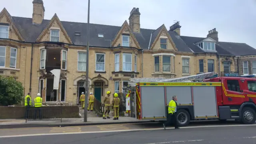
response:
{"label": "brick chimney stack at the middle of the roofline, above the gables", "polygon": [[140,32],[140,11],[139,8],[133,8],[130,12],[129,25],[132,32]]}

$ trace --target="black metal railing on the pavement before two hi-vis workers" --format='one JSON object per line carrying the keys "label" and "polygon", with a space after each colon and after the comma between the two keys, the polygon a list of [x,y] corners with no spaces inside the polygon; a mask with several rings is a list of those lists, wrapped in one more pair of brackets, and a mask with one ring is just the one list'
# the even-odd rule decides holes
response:
{"label": "black metal railing on the pavement before two hi-vis workers", "polygon": [[26,122],[43,120],[60,120],[62,122],[62,104],[26,108],[25,119]]}

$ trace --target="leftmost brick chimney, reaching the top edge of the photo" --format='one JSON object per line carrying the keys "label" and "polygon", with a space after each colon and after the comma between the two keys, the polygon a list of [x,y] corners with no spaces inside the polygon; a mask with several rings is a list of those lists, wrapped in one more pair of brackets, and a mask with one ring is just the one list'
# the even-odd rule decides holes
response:
{"label": "leftmost brick chimney, reaching the top edge of the photo", "polygon": [[44,19],[44,2],[43,0],[33,0],[32,22],[41,24]]}

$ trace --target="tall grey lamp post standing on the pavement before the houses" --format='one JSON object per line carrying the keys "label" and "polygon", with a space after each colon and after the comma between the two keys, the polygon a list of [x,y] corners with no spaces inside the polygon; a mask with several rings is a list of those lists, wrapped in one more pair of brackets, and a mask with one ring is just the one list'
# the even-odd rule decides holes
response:
{"label": "tall grey lamp post standing on the pavement before the houses", "polygon": [[[88,103],[88,94],[89,94],[89,24],[90,24],[90,0],[88,0],[88,14],[87,14],[87,45],[86,45],[86,78],[85,78],[85,86],[86,86],[86,95],[84,100],[84,105]],[[84,122],[87,122],[87,108],[84,108]]]}

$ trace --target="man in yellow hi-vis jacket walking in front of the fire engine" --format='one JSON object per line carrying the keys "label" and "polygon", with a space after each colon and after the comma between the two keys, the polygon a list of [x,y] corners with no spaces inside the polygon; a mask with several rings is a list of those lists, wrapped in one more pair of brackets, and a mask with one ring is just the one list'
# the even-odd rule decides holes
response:
{"label": "man in yellow hi-vis jacket walking in front of the fire engine", "polygon": [[167,125],[170,125],[171,122],[174,123],[175,129],[179,129],[177,125],[177,118],[176,118],[176,111],[177,111],[177,101],[178,98],[177,96],[172,96],[172,100],[169,102],[168,106],[168,116],[167,116],[167,121],[164,125],[164,130],[166,129]]}

